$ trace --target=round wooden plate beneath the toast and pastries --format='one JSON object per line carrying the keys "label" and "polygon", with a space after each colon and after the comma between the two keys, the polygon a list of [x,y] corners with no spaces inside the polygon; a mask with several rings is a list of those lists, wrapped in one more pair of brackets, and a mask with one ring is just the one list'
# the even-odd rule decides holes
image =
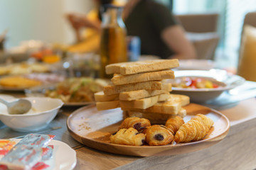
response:
{"label": "round wooden plate beneath the toast and pastries", "polygon": [[230,121],[222,113],[211,108],[191,103],[184,107],[187,115],[185,122],[193,115],[203,113],[214,121],[213,128],[203,140],[164,146],[127,146],[110,143],[110,135],[117,132],[123,120],[120,108],[97,111],[95,105],[85,106],[73,112],[67,120],[70,135],[78,142],[113,154],[149,157],[152,155],[176,155],[195,152],[215,145],[228,134]]}

